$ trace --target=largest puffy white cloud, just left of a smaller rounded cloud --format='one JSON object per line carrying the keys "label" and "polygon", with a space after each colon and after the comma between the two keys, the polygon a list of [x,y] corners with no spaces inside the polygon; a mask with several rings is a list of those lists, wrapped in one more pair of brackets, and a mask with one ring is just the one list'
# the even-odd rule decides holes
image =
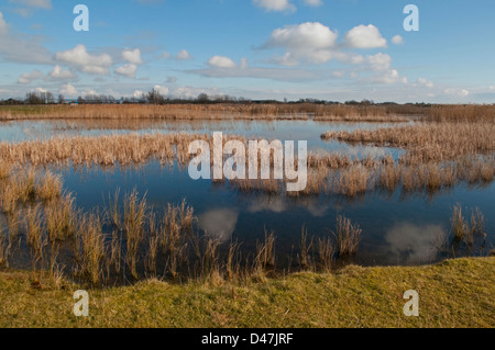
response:
{"label": "largest puffy white cloud, just left of a smaller rounded cloud", "polygon": [[338,34],[328,26],[319,22],[307,22],[276,29],[264,47],[285,48],[285,55],[275,58],[285,66],[296,66],[300,60],[322,64],[333,57],[337,38]]}

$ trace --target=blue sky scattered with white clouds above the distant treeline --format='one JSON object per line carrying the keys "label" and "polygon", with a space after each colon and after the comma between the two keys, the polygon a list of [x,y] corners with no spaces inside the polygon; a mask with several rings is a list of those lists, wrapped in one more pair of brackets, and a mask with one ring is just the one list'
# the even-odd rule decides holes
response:
{"label": "blue sky scattered with white clouds above the distant treeline", "polygon": [[493,0],[1,0],[0,99],[495,103],[494,18]]}

